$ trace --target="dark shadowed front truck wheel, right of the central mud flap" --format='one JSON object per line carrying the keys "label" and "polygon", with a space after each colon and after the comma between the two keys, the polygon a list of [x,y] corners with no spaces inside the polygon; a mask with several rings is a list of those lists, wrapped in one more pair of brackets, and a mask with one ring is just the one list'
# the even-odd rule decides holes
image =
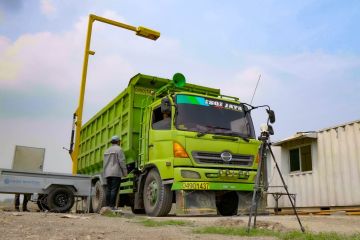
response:
{"label": "dark shadowed front truck wheel, right of the central mud flap", "polygon": [[228,192],[216,197],[216,208],[222,216],[233,216],[238,211],[239,197],[236,192]]}

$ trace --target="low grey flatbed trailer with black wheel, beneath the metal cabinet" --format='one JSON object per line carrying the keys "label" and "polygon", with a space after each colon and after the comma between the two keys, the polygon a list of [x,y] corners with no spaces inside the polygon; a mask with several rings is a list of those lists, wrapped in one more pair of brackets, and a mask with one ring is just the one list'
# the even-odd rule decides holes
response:
{"label": "low grey flatbed trailer with black wheel, beneath the metal cabinet", "polygon": [[75,198],[91,198],[91,176],[0,168],[0,193],[32,194],[40,210],[68,212]]}

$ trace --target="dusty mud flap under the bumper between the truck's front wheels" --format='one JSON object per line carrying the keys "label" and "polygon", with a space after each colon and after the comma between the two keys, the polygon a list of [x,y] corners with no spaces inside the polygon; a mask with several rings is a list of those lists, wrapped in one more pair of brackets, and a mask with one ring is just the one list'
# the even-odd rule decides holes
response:
{"label": "dusty mud flap under the bumper between the truck's front wheels", "polygon": [[176,215],[216,215],[215,192],[176,191]]}

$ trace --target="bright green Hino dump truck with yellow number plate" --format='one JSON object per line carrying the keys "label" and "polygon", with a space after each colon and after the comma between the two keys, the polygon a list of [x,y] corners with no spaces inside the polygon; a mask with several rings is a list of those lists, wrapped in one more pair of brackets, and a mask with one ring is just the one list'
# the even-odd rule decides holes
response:
{"label": "bright green Hino dump truck with yellow number plate", "polygon": [[95,176],[94,211],[105,203],[106,183],[96,174],[113,135],[121,136],[129,170],[118,205],[134,213],[165,216],[176,203],[177,213],[229,216],[253,191],[261,142],[247,105],[219,89],[185,83],[181,74],[131,78],[80,130],[76,169]]}

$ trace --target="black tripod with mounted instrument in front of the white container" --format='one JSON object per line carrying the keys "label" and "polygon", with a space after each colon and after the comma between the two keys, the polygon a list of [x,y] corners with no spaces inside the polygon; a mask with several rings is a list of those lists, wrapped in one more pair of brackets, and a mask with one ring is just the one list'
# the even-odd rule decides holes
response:
{"label": "black tripod with mounted instrument in front of the white container", "polygon": [[[247,232],[250,231],[251,228],[251,220],[252,217],[254,217],[254,224],[253,224],[253,228],[256,228],[256,216],[257,216],[257,208],[258,208],[258,203],[261,197],[261,193],[262,193],[262,189],[264,189],[265,191],[267,191],[267,184],[261,184],[261,180],[262,182],[267,182],[267,176],[266,176],[266,169],[265,169],[265,161],[266,161],[266,151],[269,150],[272,159],[274,160],[276,169],[280,175],[283,187],[289,197],[289,201],[291,203],[292,209],[294,210],[294,213],[296,215],[296,218],[299,222],[300,225],[300,229],[302,232],[305,232],[305,228],[302,226],[300,218],[297,214],[296,208],[295,208],[295,204],[293,202],[293,199],[291,198],[287,185],[285,184],[285,180],[283,178],[283,175],[281,174],[280,168],[276,162],[274,153],[271,149],[271,143],[269,142],[269,137],[270,135],[272,135],[274,133],[271,125],[267,124],[266,127],[264,129],[262,129],[259,140],[262,141],[261,146],[260,146],[260,161],[259,161],[259,165],[258,165],[258,169],[257,169],[257,174],[256,174],[256,179],[255,179],[255,185],[254,185],[254,193],[253,193],[253,197],[252,197],[252,201],[251,201],[251,206],[250,206],[250,213],[249,213],[249,222],[248,222],[248,229]],[[262,179],[261,179],[261,174],[263,174]]]}

